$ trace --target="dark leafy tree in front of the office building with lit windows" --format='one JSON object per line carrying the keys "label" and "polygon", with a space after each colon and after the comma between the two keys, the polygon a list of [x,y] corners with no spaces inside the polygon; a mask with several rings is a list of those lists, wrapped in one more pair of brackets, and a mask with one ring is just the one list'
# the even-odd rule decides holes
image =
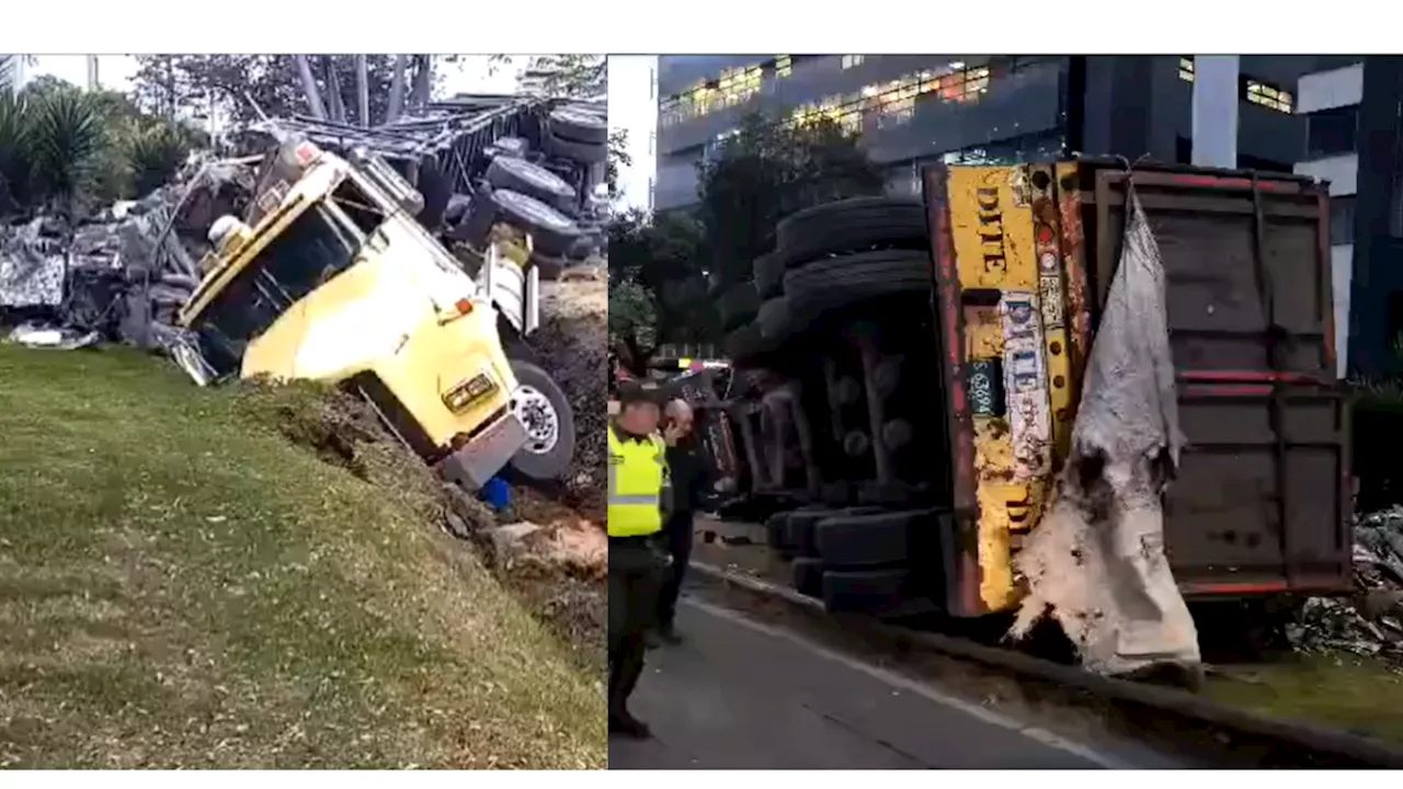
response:
{"label": "dark leafy tree in front of the office building with lit windows", "polygon": [[751,115],[697,166],[697,216],[720,285],[752,278],[752,263],[773,248],[774,225],[784,216],[882,192],[881,170],[857,139],[826,118],[790,124]]}

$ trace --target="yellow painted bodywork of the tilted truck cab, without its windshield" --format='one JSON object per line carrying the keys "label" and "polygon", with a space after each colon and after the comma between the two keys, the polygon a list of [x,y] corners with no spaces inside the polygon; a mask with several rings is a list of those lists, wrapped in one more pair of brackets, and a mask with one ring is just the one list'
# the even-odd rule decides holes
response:
{"label": "yellow painted bodywork of the tilted truck cab, without its windshield", "polygon": [[[331,194],[345,183],[362,190],[386,215],[349,267],[302,296],[243,350],[244,378],[311,379],[340,383],[373,373],[424,435],[446,451],[456,437],[476,435],[509,406],[516,378],[497,334],[497,312],[473,281],[384,191],[345,160],[323,154],[282,205],[253,229],[250,243],[229,250],[181,312],[199,329],[213,306],[241,295],[230,289],[268,244],[314,211],[335,211]],[[236,306],[237,309],[237,306]],[[443,396],[485,375],[495,390],[453,410]]]}

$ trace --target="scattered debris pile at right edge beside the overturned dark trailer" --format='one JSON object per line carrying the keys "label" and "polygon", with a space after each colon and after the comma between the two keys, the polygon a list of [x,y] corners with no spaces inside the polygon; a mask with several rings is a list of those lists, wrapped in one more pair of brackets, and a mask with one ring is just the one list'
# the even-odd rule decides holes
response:
{"label": "scattered debris pile at right edge beside the overturned dark trailer", "polygon": [[1354,525],[1354,594],[1312,597],[1287,639],[1299,651],[1340,650],[1403,667],[1403,507]]}

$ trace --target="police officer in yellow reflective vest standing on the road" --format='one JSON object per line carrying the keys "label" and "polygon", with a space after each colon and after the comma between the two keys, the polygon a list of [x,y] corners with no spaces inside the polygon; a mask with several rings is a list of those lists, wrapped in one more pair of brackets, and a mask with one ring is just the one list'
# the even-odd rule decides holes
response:
{"label": "police officer in yellow reflective vest standing on the road", "polygon": [[658,546],[668,487],[666,445],[658,435],[659,392],[619,387],[609,424],[609,733],[651,736],[629,712],[643,674],[668,556]]}

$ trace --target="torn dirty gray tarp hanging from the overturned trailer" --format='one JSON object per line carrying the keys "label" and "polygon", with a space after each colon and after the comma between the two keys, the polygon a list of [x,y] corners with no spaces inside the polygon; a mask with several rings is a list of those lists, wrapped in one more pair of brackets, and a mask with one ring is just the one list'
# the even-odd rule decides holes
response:
{"label": "torn dirty gray tarp hanging from the overturned trailer", "polygon": [[1072,455],[1048,512],[1016,559],[1030,594],[1014,636],[1051,611],[1092,671],[1200,664],[1198,633],[1164,556],[1160,496],[1181,445],[1164,271],[1132,191]]}

